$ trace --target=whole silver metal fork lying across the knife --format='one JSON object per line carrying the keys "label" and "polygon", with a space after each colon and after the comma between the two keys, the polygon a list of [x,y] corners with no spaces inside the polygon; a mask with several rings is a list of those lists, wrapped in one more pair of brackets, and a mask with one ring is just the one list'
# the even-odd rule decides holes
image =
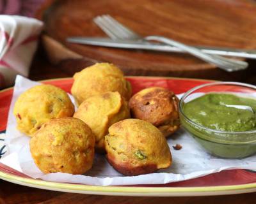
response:
{"label": "whole silver metal fork lying across the knife", "polygon": [[219,55],[205,54],[198,48],[185,45],[169,38],[164,38],[163,36],[146,36],[143,38],[139,34],[112,18],[110,15],[95,17],[93,21],[95,24],[99,25],[99,27],[113,40],[129,39],[138,41],[158,41],[166,45],[180,48],[181,50],[184,50],[185,52],[188,52],[189,54],[194,55],[203,61],[215,64],[218,66],[218,68],[224,69],[225,71],[238,71],[248,67],[247,62],[228,59]]}

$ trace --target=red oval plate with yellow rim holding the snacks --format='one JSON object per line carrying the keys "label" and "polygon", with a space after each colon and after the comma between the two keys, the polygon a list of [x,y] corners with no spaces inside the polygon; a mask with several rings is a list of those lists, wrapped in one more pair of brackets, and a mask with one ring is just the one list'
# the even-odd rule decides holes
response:
{"label": "red oval plate with yellow rim holding the snacks", "polygon": [[[206,80],[159,77],[127,77],[127,80],[131,82],[133,93],[136,93],[146,87],[161,86],[172,90],[175,94],[180,94],[188,91],[196,85],[209,82]],[[70,92],[73,80],[72,78],[62,78],[47,80],[44,81],[44,83],[56,85],[61,87],[61,89]],[[12,88],[0,91],[0,132],[3,132],[6,128],[12,92]],[[221,171],[220,173],[213,173],[205,177],[185,180],[182,182],[173,182],[170,184],[116,187],[88,186],[32,179],[27,175],[0,163],[0,179],[8,180],[15,184],[53,191],[118,196],[205,196],[249,193],[256,191],[256,173],[246,170]]]}

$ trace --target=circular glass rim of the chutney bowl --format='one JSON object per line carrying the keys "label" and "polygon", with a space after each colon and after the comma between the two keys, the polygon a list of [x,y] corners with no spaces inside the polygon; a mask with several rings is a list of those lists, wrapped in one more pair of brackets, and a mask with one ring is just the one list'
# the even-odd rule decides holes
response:
{"label": "circular glass rim of the chutney bowl", "polygon": [[191,94],[192,92],[198,90],[198,89],[202,89],[204,87],[208,87],[208,86],[212,86],[212,85],[237,85],[237,86],[243,86],[243,87],[248,87],[248,88],[252,88],[255,89],[256,92],[256,85],[252,85],[252,84],[245,84],[245,83],[241,83],[241,82],[210,82],[207,84],[202,84],[202,85],[198,85],[196,87],[193,87],[192,89],[189,89],[189,91],[185,92],[182,96],[182,98],[180,98],[179,101],[179,112],[182,114],[182,116],[188,120],[189,123],[193,124],[193,126],[196,126],[197,128],[201,128],[201,129],[205,129],[207,131],[212,131],[215,133],[221,133],[221,134],[228,134],[228,135],[244,135],[244,134],[250,134],[250,133],[256,133],[256,129],[253,131],[237,131],[237,132],[230,132],[230,131],[221,131],[221,130],[217,130],[217,129],[211,129],[211,128],[206,128],[204,126],[201,126],[200,124],[197,124],[196,122],[193,122],[192,120],[190,120],[185,113],[182,111],[182,103],[184,102],[184,99]]}

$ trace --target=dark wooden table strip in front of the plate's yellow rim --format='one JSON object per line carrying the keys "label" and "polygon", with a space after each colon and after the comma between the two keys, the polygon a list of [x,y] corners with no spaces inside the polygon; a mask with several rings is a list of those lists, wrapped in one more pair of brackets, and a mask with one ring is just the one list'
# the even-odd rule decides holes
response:
{"label": "dark wooden table strip in front of the plate's yellow rim", "polygon": [[74,193],[45,191],[26,186],[19,186],[0,180],[0,204],[34,204],[34,203],[90,203],[90,204],[241,204],[255,203],[256,193],[235,194],[227,196],[206,197],[127,197],[127,196],[97,196]]}

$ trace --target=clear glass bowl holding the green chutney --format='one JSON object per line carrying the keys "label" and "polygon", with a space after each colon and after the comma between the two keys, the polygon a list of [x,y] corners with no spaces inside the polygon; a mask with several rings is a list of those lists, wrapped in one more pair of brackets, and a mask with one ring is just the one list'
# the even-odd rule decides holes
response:
{"label": "clear glass bowl holding the green chutney", "polygon": [[243,132],[218,131],[206,128],[190,120],[183,112],[185,103],[195,98],[195,93],[234,93],[244,97],[254,94],[256,100],[256,86],[238,82],[214,82],[199,85],[182,96],[179,102],[180,122],[182,126],[214,156],[225,158],[243,158],[256,153],[256,130]]}

